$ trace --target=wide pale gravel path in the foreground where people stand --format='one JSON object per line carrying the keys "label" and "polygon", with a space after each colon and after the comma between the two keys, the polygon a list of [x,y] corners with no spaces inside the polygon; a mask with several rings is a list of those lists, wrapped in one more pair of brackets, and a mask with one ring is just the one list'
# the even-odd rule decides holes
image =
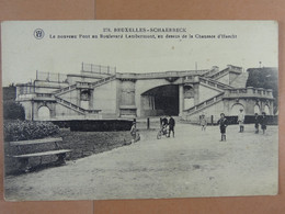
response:
{"label": "wide pale gravel path in the foreground where people stand", "polygon": [[66,166],[4,180],[7,200],[94,200],[258,195],[277,193],[277,126],[254,134],[178,124],[175,138],[141,140]]}

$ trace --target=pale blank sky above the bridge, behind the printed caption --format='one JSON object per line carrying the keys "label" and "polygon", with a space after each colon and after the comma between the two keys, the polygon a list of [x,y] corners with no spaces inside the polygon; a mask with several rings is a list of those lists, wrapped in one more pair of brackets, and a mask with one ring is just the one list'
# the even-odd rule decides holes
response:
{"label": "pale blank sky above the bridge, behind the printed caption", "polygon": [[[35,37],[36,29],[43,30],[43,38]],[[166,29],[183,32],[150,32]],[[260,61],[277,67],[277,29],[273,21],[7,21],[1,31],[2,85],[34,80],[36,70],[79,74],[82,61],[116,67],[118,72],[194,70],[195,65],[246,70]],[[126,30],[138,32],[122,32]],[[101,34],[123,38],[100,38]],[[218,38],[224,34],[232,38]],[[77,38],[58,38],[65,35]],[[135,35],[156,38],[127,37]]]}

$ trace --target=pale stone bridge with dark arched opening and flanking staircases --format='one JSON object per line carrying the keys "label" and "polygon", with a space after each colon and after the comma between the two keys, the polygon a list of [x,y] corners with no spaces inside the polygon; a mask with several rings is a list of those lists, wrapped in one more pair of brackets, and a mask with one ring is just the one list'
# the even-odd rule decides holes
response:
{"label": "pale stone bridge with dark arched opening and flanking staircases", "polygon": [[[276,69],[276,68],[274,68]],[[277,69],[276,69],[277,70]],[[228,65],[206,70],[117,72],[82,64],[78,75],[39,72],[33,82],[16,85],[16,101],[26,120],[102,120],[176,115],[197,122],[201,114],[273,115],[271,89],[246,88],[248,71]]]}

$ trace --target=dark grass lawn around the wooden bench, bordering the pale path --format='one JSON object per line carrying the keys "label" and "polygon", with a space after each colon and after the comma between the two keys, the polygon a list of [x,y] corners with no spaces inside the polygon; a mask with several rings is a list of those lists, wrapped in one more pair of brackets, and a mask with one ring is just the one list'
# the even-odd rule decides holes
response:
{"label": "dark grass lawn around the wooden bench, bordering the pale path", "polygon": [[[62,149],[71,149],[66,157],[66,160],[76,160],[93,154],[103,153],[113,148],[122,147],[130,144],[132,137],[128,131],[126,132],[70,132],[69,128],[61,128],[59,133],[53,137],[62,137],[59,146]],[[41,153],[46,150],[56,149],[54,144],[42,144],[23,146],[23,153]],[[5,144],[5,155],[18,155],[19,149],[9,147]],[[41,170],[53,166],[56,161],[56,156],[45,156],[30,158],[29,162],[32,170]],[[5,174],[18,174],[22,171],[19,170],[20,162],[12,157],[5,156]]]}

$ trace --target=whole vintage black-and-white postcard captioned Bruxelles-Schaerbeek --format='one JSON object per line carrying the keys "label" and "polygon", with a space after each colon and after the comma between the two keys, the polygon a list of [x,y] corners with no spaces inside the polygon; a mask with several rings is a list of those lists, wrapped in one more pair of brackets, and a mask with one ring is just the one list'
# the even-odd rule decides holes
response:
{"label": "whole vintage black-and-white postcard captioned Bruxelles-Schaerbeek", "polygon": [[275,195],[275,21],[1,23],[9,201]]}

